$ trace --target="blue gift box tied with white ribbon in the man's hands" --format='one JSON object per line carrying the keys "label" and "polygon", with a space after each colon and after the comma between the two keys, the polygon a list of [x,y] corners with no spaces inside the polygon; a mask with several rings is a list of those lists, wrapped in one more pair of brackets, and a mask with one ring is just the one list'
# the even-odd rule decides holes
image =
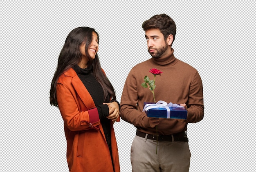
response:
{"label": "blue gift box tied with white ribbon in the man's hands", "polygon": [[[162,107],[162,106],[155,107],[154,103],[144,102],[144,106],[146,104],[152,104],[152,108],[149,105],[147,107],[148,110],[145,111],[145,113],[148,117],[168,118],[168,112],[167,112],[166,107]],[[168,106],[168,108],[170,109],[170,118],[186,120],[188,112],[186,111],[185,108],[179,107],[179,106],[177,106],[177,107]]]}

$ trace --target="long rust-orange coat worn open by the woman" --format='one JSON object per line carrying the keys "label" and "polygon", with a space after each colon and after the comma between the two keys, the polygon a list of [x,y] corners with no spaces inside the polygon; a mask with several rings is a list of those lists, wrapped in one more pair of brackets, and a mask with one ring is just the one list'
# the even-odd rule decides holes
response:
{"label": "long rust-orange coat worn open by the woman", "polygon": [[[58,107],[64,120],[70,172],[113,172],[111,156],[97,108],[88,90],[70,68],[58,79]],[[115,172],[120,172],[117,142],[111,123]]]}

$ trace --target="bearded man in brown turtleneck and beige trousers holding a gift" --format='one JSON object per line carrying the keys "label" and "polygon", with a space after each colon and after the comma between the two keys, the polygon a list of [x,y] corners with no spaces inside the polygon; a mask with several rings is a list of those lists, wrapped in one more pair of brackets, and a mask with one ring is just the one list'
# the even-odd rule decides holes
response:
{"label": "bearded man in brown turtleneck and beige trousers holding a gift", "polygon": [[[132,171],[188,172],[191,154],[186,130],[189,122],[199,122],[204,116],[202,80],[197,70],[174,57],[176,25],[171,17],[155,15],[142,28],[152,58],[128,74],[120,109],[121,118],[137,128],[131,147]],[[188,111],[186,120],[149,118],[142,112],[144,102],[154,102],[151,91],[141,86],[145,75],[153,79],[152,68],[162,72],[155,78],[155,101],[181,104]]]}

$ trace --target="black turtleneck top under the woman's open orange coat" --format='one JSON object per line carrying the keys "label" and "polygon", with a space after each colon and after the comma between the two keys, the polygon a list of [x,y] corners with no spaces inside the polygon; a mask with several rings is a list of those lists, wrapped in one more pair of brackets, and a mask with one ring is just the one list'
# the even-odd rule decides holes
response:
{"label": "black turtleneck top under the woman's open orange coat", "polygon": [[[109,115],[108,105],[102,105],[103,102],[109,101],[104,100],[103,89],[93,74],[92,65],[88,66],[85,69],[80,68],[78,65],[75,65],[72,68],[76,71],[76,74],[81,79],[86,89],[92,96],[94,104],[98,109],[101,125],[111,153],[110,120],[106,118]],[[109,100],[109,98],[106,98],[106,100]]]}

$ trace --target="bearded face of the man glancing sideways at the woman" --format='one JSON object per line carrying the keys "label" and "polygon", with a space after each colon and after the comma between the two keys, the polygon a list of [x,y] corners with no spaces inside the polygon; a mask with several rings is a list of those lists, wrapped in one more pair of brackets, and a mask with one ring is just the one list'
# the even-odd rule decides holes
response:
{"label": "bearded face of the man glancing sideways at the woman", "polygon": [[146,30],[145,37],[147,39],[148,52],[153,58],[159,58],[166,54],[168,44],[159,29]]}

